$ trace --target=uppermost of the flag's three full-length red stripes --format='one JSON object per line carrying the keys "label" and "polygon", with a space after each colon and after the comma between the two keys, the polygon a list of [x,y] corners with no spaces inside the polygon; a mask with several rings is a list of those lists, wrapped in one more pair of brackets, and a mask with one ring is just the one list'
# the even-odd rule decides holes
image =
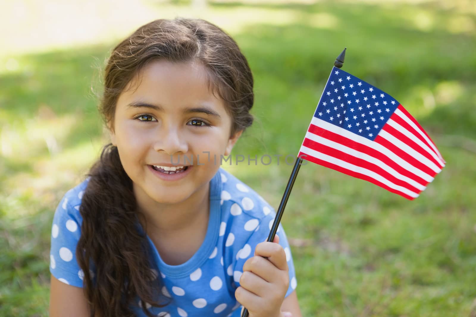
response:
{"label": "uppermost of the flag's three full-length red stripes", "polygon": [[[393,161],[392,159],[390,159],[387,155],[379,152],[378,150],[370,147],[370,146],[367,146],[365,144],[361,144],[361,143],[358,143],[354,140],[351,140],[351,139],[348,139],[346,138],[345,136],[342,136],[340,134],[336,134],[336,133],[333,133],[333,132],[330,132],[324,128],[321,128],[317,125],[310,125],[309,126],[309,130],[308,130],[310,133],[312,134],[316,134],[316,135],[319,135],[319,136],[322,136],[328,140],[331,140],[331,141],[334,141],[334,142],[337,142],[339,144],[343,144],[343,145],[346,145],[350,148],[353,148],[355,149],[356,151],[359,151],[359,152],[362,152],[362,153],[365,153],[369,156],[372,156],[372,157],[375,157],[376,159],[382,161],[383,163],[386,163],[388,166],[390,166],[391,168],[393,168],[394,170],[396,170],[398,173],[402,174],[402,175],[405,175],[407,176],[408,178],[411,178],[413,180],[415,180],[417,183],[420,183],[422,184],[423,186],[426,186],[426,184],[428,183],[426,180],[424,180],[423,178],[421,178],[420,176],[408,171],[407,169],[405,169],[404,167],[402,167],[401,165],[399,165],[398,163],[396,163],[395,161]],[[397,154],[398,155],[398,154]],[[400,156],[400,155],[398,155]],[[404,158],[402,158],[403,160],[405,160]],[[408,160],[405,160],[408,162]],[[410,162],[409,162],[410,163]],[[411,165],[415,166],[414,164],[410,163]],[[416,167],[418,168],[418,167]]]}

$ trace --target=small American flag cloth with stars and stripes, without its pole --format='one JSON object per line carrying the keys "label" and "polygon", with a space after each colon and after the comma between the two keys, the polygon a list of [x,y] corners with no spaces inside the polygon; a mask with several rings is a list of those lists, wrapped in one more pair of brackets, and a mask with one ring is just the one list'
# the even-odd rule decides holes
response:
{"label": "small American flag cloth with stars and stripes, without its pole", "polygon": [[299,157],[413,200],[445,160],[392,96],[333,67]]}

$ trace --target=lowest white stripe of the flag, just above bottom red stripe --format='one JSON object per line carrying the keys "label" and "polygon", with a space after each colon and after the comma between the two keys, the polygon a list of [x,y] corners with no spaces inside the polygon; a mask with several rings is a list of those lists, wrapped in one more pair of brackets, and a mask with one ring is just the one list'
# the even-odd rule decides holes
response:
{"label": "lowest white stripe of the flag, just above bottom red stripe", "polygon": [[354,164],[348,163],[346,161],[342,161],[340,159],[337,159],[333,156],[330,156],[330,155],[327,155],[327,154],[324,154],[324,153],[317,152],[317,151],[315,151],[313,149],[310,149],[306,146],[301,146],[300,152],[305,153],[305,154],[310,155],[310,156],[313,156],[313,157],[315,157],[319,160],[323,160],[323,161],[326,161],[326,162],[329,162],[329,163],[339,165],[339,166],[341,166],[341,167],[343,167],[347,170],[367,175],[368,177],[373,178],[373,179],[375,179],[376,181],[378,181],[380,183],[384,183],[388,187],[393,188],[393,189],[395,189],[399,192],[403,192],[403,193],[407,194],[410,197],[414,197],[414,198],[418,197],[418,194],[416,192],[412,192],[412,191],[408,190],[405,187],[396,185],[396,184],[390,182],[389,180],[387,180],[382,175],[380,175],[378,173],[375,173],[373,171],[367,170],[366,168],[356,166]]}

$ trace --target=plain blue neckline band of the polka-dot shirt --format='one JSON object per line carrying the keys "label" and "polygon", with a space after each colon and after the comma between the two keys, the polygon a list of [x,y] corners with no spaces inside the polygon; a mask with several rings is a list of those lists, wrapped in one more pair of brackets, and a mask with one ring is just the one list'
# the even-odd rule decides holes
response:
{"label": "plain blue neckline band of the polka-dot shirt", "polygon": [[[157,265],[159,271],[163,273],[166,277],[169,276],[171,278],[183,278],[190,275],[205,263],[205,261],[208,259],[213,249],[217,245],[221,216],[221,175],[219,170],[217,173],[215,173],[215,175],[209,182],[210,214],[208,217],[207,233],[200,248],[198,248],[197,252],[195,252],[195,254],[190,259],[188,259],[185,263],[179,265],[169,265],[165,263],[160,257],[159,252],[157,251],[157,248],[155,247],[154,243],[152,242],[152,240],[150,240],[149,236],[147,236],[149,248],[152,252],[152,258],[154,259],[154,262]],[[140,231],[142,233],[144,232],[141,226]]]}

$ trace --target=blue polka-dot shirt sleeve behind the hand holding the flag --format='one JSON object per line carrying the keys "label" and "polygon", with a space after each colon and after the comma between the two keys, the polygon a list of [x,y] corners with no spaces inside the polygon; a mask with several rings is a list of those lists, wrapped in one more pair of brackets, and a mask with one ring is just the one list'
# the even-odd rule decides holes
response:
{"label": "blue polka-dot shirt sleeve behind the hand holding the flag", "polygon": [[[239,279],[241,274],[243,273],[243,265],[245,262],[254,256],[254,252],[258,243],[264,242],[268,240],[269,235],[269,227],[274,221],[274,214],[269,214],[268,216],[264,217],[257,228],[256,231],[249,237],[246,244],[243,246],[241,250],[238,251],[237,254],[237,261],[233,270],[233,279],[235,281],[236,288],[239,287]],[[289,287],[288,291],[286,292],[286,296],[288,297],[297,287],[297,280],[296,280],[296,273],[294,270],[294,263],[291,254],[291,248],[289,247],[288,238],[286,237],[286,233],[284,232],[283,227],[281,224],[278,226],[278,232],[276,233],[279,236],[279,244],[283,247],[286,253],[286,260],[288,261],[288,269],[289,269]]]}

